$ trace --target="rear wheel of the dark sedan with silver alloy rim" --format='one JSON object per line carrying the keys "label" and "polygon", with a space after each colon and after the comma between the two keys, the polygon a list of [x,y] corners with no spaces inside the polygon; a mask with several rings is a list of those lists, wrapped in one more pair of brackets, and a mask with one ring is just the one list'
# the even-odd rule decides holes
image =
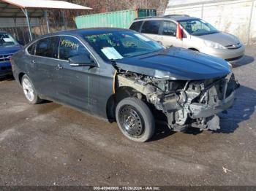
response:
{"label": "rear wheel of the dark sedan with silver alloy rim", "polygon": [[42,102],[42,99],[39,98],[37,91],[34,89],[34,85],[26,74],[21,79],[21,86],[30,104],[39,104]]}

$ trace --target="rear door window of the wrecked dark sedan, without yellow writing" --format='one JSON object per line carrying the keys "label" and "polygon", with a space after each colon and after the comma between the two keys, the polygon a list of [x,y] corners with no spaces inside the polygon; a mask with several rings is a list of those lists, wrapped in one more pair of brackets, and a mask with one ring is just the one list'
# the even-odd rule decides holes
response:
{"label": "rear door window of the wrecked dark sedan, without yellow writing", "polygon": [[41,39],[37,42],[36,55],[58,58],[59,36]]}

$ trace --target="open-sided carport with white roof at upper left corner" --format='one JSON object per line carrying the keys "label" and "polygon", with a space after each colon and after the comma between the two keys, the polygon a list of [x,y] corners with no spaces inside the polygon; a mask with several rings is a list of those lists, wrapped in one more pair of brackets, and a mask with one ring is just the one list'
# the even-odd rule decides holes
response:
{"label": "open-sided carport with white roof at upper left corner", "polygon": [[[0,30],[10,32],[11,29],[13,31],[12,34],[15,34],[14,36],[18,39],[18,28],[27,28],[29,31],[29,40],[31,40],[34,37],[32,27],[39,27],[41,31],[39,18],[45,17],[47,30],[50,32],[47,13],[49,9],[82,10],[91,8],[72,4],[67,1],[0,0]],[[20,31],[23,32],[26,43],[26,36],[23,29]]]}

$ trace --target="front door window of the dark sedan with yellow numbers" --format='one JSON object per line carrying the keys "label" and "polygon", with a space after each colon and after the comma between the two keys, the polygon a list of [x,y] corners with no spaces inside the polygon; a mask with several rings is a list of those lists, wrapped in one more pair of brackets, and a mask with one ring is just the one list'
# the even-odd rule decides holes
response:
{"label": "front door window of the dark sedan with yellow numbers", "polygon": [[68,60],[76,55],[89,55],[86,47],[72,36],[62,36],[59,44],[59,59]]}

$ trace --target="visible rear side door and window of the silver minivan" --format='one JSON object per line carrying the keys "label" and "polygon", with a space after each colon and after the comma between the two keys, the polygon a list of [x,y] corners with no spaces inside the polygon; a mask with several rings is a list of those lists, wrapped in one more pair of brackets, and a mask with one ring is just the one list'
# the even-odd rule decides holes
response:
{"label": "visible rear side door and window of the silver minivan", "polygon": [[159,35],[160,27],[161,20],[146,20],[141,28],[141,33],[157,42],[161,42],[161,36]]}

